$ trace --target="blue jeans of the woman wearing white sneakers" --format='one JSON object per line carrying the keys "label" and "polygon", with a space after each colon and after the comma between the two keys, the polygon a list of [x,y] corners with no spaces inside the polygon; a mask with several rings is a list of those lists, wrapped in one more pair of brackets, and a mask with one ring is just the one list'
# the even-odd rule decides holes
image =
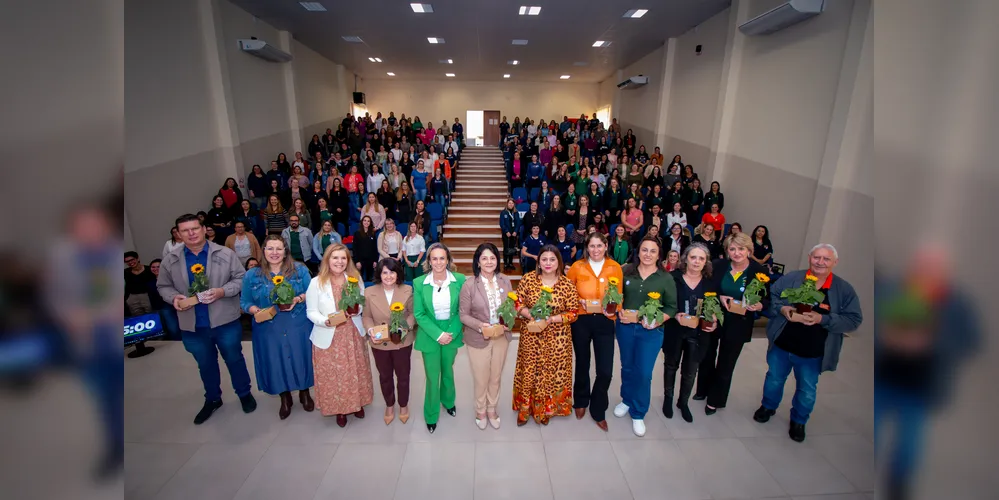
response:
{"label": "blue jeans of the woman wearing white sneakers", "polygon": [[621,400],[635,420],[643,420],[652,398],[652,370],[663,345],[663,328],[646,330],[641,324],[617,324],[621,350]]}

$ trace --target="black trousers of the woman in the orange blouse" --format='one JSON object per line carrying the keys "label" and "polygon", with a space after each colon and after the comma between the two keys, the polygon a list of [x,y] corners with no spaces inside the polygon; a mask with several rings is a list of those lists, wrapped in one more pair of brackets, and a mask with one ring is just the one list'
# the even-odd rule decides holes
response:
{"label": "black trousers of the woman in the orange blouse", "polygon": [[[596,363],[597,378],[590,387],[590,344]],[[600,422],[607,413],[607,391],[614,374],[614,322],[602,314],[583,314],[572,324],[572,350],[576,356],[575,381],[572,384],[574,408],[590,409],[593,420]]]}

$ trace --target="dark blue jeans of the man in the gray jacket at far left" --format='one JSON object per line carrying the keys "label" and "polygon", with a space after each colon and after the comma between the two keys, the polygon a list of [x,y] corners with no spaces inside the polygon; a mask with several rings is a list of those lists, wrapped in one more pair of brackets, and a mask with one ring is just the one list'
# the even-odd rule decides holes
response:
{"label": "dark blue jeans of the man in the gray jacket at far left", "polygon": [[194,356],[205,386],[206,401],[222,399],[222,377],[219,374],[219,354],[229,368],[232,388],[239,397],[250,394],[250,372],[243,359],[243,325],[239,320],[215,328],[197,328],[183,332],[184,349]]}

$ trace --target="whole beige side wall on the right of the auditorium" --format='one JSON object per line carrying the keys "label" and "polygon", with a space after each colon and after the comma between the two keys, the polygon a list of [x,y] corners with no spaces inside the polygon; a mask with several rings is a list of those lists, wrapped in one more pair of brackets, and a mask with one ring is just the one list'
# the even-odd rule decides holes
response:
{"label": "whole beige side wall on the right of the auditorium", "polygon": [[[871,2],[826,2],[823,14],[767,36],[738,32],[741,22],[774,4],[735,0],[668,41],[675,47],[665,63],[669,86],[650,83],[668,91],[668,105],[655,89],[623,91],[615,115],[625,128],[659,120],[663,153],[683,155],[703,181],[722,184],[729,221],[747,230],[767,225],[778,262],[804,266],[814,244],[837,246],[837,272],[862,292],[870,310]],[[698,44],[701,55],[695,55]],[[662,49],[650,53],[624,68],[624,76],[662,56]]]}

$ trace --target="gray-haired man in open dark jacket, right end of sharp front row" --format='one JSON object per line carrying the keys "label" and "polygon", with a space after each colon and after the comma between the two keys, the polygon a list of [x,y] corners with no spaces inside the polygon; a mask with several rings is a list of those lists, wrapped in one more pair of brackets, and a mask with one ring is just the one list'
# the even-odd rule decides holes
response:
{"label": "gray-haired man in open dark jacket, right end of sharp front row", "polygon": [[[792,271],[770,287],[774,317],[767,323],[769,368],[763,382],[763,402],[753,420],[765,423],[777,412],[784,382],[793,370],[795,390],[788,435],[799,443],[805,440],[805,424],[815,407],[819,374],[836,369],[843,334],[856,330],[864,319],[857,292],[846,280],[833,275],[838,262],[835,247],[815,245],[808,252],[807,270]],[[781,297],[785,290],[806,284],[821,292],[822,299],[792,304],[790,297]]]}

